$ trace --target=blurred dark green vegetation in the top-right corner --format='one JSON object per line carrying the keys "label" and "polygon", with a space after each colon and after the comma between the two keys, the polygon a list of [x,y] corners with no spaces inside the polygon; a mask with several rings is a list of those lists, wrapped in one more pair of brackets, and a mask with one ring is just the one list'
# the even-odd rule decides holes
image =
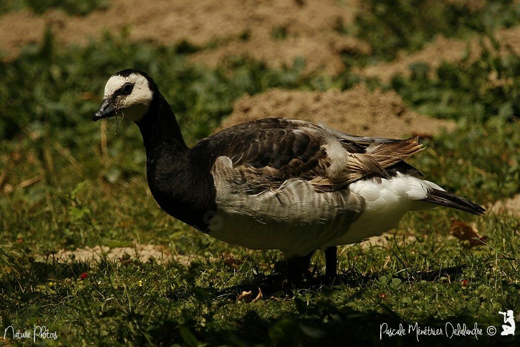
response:
{"label": "blurred dark green vegetation in the top-right corner", "polygon": [[413,52],[435,35],[469,37],[509,28],[520,20],[520,6],[499,1],[367,0],[353,31],[373,48],[373,54],[393,59],[399,49]]}

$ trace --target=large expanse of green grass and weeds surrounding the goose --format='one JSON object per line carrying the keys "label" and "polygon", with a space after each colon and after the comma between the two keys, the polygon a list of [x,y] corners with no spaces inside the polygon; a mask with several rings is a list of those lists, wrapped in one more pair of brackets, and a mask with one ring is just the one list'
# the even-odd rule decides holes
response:
{"label": "large expanse of green grass and weeds surrounding the goose", "polygon": [[[0,171],[6,172],[0,195],[0,328],[45,325],[59,335],[44,341],[49,345],[405,345],[414,336],[380,341],[380,324],[476,322],[484,327],[478,341],[423,340],[513,344],[514,338],[487,338],[485,328],[500,327],[499,311],[517,314],[520,308],[516,217],[448,209],[410,213],[387,244],[342,248],[342,275],[333,285],[322,279],[323,254],[317,253],[315,280],[292,288],[275,271],[279,252],[231,247],[160,210],[147,194],[136,126],[122,121],[116,130],[107,122],[105,152],[102,128],[91,121],[113,72],[148,71],[191,144],[210,134],[243,93],[276,86],[348,88],[359,81],[348,72],[303,76],[302,61],[281,70],[250,60],[216,70],[193,67],[185,48],[105,37],[86,47],[57,49],[47,35],[42,47],[28,47],[0,66]],[[428,179],[482,204],[520,191],[519,59],[497,60],[488,52],[473,65],[444,65],[434,77],[416,67],[410,78],[387,86],[416,110],[458,121],[459,130],[426,139],[428,149],[411,161]],[[483,87],[490,73],[512,79],[514,87]],[[508,103],[510,110],[501,111]],[[40,181],[19,186],[35,176]],[[487,244],[469,248],[449,236],[452,217],[475,223]],[[202,260],[184,266],[58,264],[42,258],[60,249],[132,241]],[[81,280],[83,272],[88,277]],[[256,295],[258,288],[262,300],[237,302],[243,290]]]}

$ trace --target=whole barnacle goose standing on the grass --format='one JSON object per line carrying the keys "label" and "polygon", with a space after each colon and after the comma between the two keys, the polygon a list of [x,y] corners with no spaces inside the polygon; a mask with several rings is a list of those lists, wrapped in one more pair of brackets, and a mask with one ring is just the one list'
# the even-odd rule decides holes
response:
{"label": "whole barnacle goose standing on the grass", "polygon": [[116,115],[139,127],[148,185],[166,213],[233,245],[281,250],[293,277],[317,249],[326,250],[326,273],[334,276],[337,245],[381,235],[407,211],[485,212],[404,162],[423,149],[419,138],[361,137],[267,118],[188,148],[158,86],[133,69],[111,76],[93,120]]}

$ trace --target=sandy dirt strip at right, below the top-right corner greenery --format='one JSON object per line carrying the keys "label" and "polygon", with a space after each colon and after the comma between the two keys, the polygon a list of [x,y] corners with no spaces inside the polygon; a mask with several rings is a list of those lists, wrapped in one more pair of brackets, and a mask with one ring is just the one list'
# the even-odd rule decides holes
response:
{"label": "sandy dirt strip at right, below the top-right corner greenery", "polygon": [[[516,54],[520,54],[520,27],[500,30],[497,32],[496,37],[502,44],[501,54],[508,53],[506,46],[510,46]],[[375,77],[383,82],[388,82],[399,73],[409,74],[409,67],[413,63],[427,63],[432,67],[432,70],[435,70],[443,61],[451,63],[461,61],[467,53],[470,54],[469,61],[471,62],[478,58],[480,52],[482,52],[479,40],[478,37],[464,41],[439,35],[418,52],[410,55],[401,55],[391,62],[358,69],[357,72],[366,77]]]}

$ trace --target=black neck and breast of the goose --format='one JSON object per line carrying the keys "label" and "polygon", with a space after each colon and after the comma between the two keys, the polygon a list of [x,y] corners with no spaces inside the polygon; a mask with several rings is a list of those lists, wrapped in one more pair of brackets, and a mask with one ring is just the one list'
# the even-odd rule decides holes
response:
{"label": "black neck and breast of the goose", "polygon": [[159,91],[137,125],[146,147],[148,186],[155,201],[176,219],[206,230],[216,211],[213,177],[198,152],[186,146],[175,115]]}

